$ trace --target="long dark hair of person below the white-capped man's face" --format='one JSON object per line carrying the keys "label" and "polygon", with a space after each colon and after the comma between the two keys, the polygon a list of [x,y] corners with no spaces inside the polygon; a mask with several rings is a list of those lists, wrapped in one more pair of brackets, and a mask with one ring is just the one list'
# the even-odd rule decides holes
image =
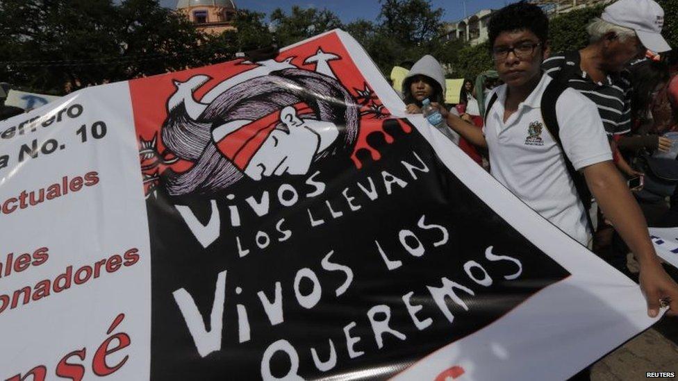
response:
{"label": "long dark hair of person below the white-capped man's face", "polygon": [[654,101],[654,89],[670,80],[668,65],[664,62],[644,60],[629,67],[631,71],[631,120],[643,119]]}

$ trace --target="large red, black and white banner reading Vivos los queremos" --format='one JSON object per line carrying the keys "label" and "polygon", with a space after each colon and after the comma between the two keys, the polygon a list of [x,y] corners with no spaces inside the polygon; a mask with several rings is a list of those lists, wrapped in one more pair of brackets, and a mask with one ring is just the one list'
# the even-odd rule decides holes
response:
{"label": "large red, black and white banner reading Vivos los queremos", "polygon": [[655,321],[342,31],[3,121],[0,179],[3,380],[565,379]]}

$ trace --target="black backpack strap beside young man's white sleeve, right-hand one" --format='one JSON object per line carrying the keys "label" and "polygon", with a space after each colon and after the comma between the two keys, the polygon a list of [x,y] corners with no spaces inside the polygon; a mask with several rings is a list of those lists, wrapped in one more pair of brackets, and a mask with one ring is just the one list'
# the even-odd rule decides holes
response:
{"label": "black backpack strap beside young man's white sleeve, right-hand one", "polygon": [[567,89],[568,87],[563,85],[563,83],[560,83],[559,81],[551,81],[549,85],[547,85],[541,99],[541,115],[544,119],[546,129],[549,131],[556,144],[558,144],[559,148],[561,149],[561,153],[565,158],[565,166],[568,169],[568,173],[570,173],[570,178],[572,178],[574,188],[577,189],[579,201],[581,201],[582,205],[584,205],[588,229],[590,230],[591,234],[593,234],[593,221],[591,221],[591,217],[588,214],[588,210],[591,208],[591,192],[588,189],[588,185],[586,185],[586,178],[584,178],[581,173],[574,169],[570,158],[568,158],[568,155],[565,154],[563,142],[561,142],[560,137],[560,126],[558,124],[558,118],[556,117],[556,101],[558,101],[560,96]]}

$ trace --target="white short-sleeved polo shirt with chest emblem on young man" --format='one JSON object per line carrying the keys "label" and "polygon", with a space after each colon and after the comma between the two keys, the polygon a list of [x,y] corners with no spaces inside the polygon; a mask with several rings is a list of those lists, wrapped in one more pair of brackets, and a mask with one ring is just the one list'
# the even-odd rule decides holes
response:
{"label": "white short-sleeved polo shirt with chest emblem on young man", "polygon": [[[565,158],[541,115],[541,99],[552,78],[543,75],[534,91],[504,123],[506,85],[497,93],[483,128],[490,172],[530,208],[581,244],[588,243],[586,211],[565,166]],[[488,101],[492,94],[488,96]],[[574,169],[612,160],[595,103],[568,89],[556,102],[556,117],[565,153]]]}

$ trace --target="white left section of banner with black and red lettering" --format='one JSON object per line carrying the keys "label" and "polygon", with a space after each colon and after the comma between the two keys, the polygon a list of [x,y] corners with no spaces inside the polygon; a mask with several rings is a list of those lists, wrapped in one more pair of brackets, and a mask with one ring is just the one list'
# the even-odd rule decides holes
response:
{"label": "white left section of banner with black and red lettering", "polygon": [[0,127],[0,378],[148,379],[151,263],[128,83]]}

